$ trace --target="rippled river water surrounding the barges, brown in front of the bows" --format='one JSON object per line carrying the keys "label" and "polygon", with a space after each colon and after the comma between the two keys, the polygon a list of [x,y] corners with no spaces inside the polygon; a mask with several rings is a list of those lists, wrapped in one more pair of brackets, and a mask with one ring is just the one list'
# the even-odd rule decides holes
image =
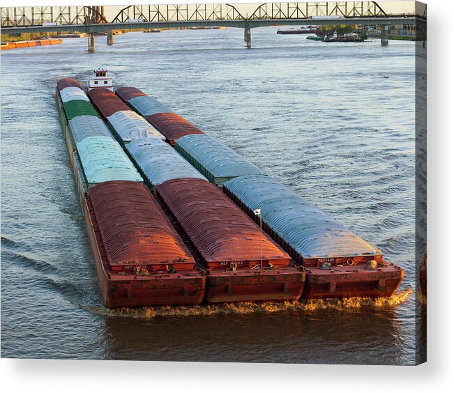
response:
{"label": "rippled river water surrounding the barges, brown in front of the bows", "polygon": [[[415,44],[240,29],[127,33],[1,54],[1,356],[414,364]],[[390,299],[108,310],[57,116],[63,77],[104,66],[380,247]],[[388,76],[388,78],[384,78]]]}

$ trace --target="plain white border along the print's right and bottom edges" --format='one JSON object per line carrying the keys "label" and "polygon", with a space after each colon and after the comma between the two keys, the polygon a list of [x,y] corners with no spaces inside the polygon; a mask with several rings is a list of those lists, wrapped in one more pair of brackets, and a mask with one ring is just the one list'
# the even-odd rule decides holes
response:
{"label": "plain white border along the print's right and bottom edges", "polygon": [[[173,1],[159,1],[173,3]],[[186,3],[188,1],[179,1]],[[194,1],[195,2],[195,1]],[[444,257],[453,244],[453,2],[427,0],[428,71],[428,362],[418,367],[1,360],[3,391],[46,392],[438,392],[453,391],[453,302]],[[2,6],[13,5],[6,1]],[[21,6],[36,6],[21,1]],[[43,1],[91,5],[90,1]],[[146,3],[144,1],[143,3]],[[14,3],[17,5],[17,3]],[[133,4],[97,1],[96,4]]]}

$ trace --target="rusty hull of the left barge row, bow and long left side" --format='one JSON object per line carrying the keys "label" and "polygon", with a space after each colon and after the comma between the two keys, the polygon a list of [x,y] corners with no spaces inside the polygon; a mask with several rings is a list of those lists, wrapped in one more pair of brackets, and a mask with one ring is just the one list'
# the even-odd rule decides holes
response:
{"label": "rusty hull of the left barge row, bow and long left side", "polygon": [[56,101],[105,307],[198,305],[204,299],[206,277],[197,269],[185,270],[181,274],[158,273],[147,276],[120,275],[112,272],[106,260],[96,217],[84,182],[84,174],[58,89],[56,90]]}

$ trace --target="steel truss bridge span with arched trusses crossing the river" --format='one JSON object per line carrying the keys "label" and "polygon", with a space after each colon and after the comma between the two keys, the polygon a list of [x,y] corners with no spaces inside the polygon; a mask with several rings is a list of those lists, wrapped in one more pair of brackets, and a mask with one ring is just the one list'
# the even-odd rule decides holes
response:
{"label": "steel truss bridge span with arched trusses crossing the river", "polygon": [[[388,3],[389,4],[389,3]],[[1,8],[2,33],[159,29],[190,26],[261,27],[270,25],[425,24],[426,8],[415,2],[411,15],[386,12],[386,2],[317,1],[262,4],[150,4],[141,6]],[[112,9],[110,9],[112,8]],[[324,19],[317,19],[324,18]],[[333,18],[333,19],[326,19]],[[137,22],[142,20],[144,22]],[[135,21],[135,22],[133,22]],[[43,26],[43,24],[55,24]]]}

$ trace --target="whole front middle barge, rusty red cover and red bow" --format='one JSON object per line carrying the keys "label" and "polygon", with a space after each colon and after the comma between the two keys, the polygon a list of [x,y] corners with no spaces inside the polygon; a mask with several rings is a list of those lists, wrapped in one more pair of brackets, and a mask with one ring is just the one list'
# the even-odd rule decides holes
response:
{"label": "whole front middle barge, rusty red cover and red bow", "polygon": [[178,178],[156,185],[201,256],[206,270],[205,300],[294,302],[305,271],[218,187],[200,178]]}

